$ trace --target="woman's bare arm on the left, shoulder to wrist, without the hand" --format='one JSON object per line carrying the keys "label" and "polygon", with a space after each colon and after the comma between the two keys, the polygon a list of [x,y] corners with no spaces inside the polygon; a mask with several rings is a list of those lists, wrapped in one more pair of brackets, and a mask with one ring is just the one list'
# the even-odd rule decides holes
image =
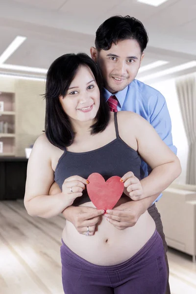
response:
{"label": "woman's bare arm on the left, shoulder to wrist, without the hand", "polygon": [[43,134],[36,140],[27,166],[24,204],[31,216],[50,218],[60,214],[69,204],[69,199],[61,192],[49,196],[54,181],[50,154],[50,143]]}

